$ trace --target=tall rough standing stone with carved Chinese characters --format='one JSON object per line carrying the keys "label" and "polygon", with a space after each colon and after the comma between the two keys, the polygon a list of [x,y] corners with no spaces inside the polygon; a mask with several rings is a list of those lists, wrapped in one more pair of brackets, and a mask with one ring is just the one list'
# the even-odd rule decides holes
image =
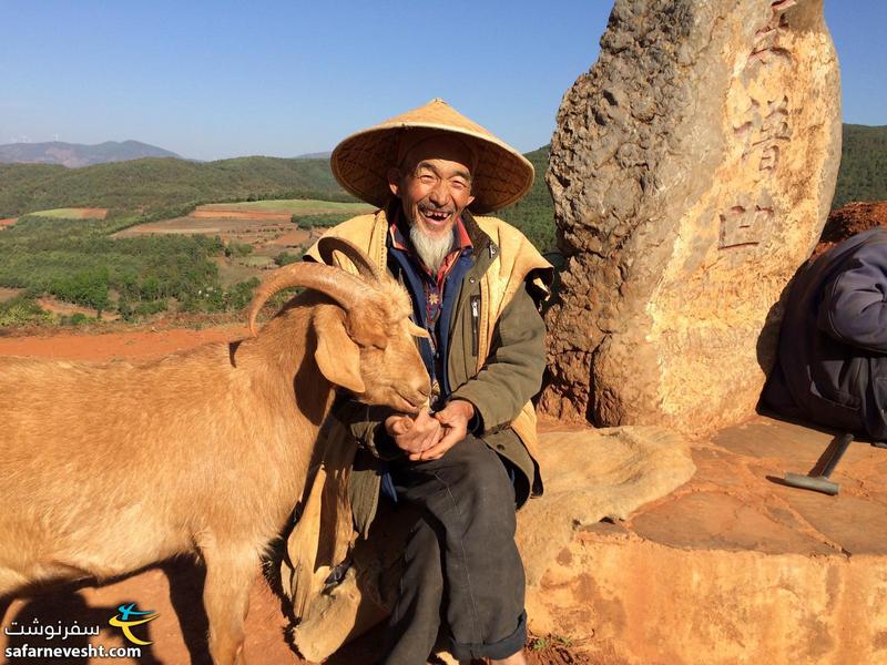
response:
{"label": "tall rough standing stone with carved Chinese characters", "polygon": [[616,0],[551,145],[561,303],[543,409],[711,430],[747,417],[840,156],[822,0]]}

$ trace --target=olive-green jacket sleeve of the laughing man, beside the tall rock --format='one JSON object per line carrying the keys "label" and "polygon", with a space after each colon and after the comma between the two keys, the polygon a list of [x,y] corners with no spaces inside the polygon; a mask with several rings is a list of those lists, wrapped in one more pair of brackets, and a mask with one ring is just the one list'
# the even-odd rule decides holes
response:
{"label": "olive-green jacket sleeve of the laughing man, beside the tall rock", "polygon": [[475,405],[481,433],[511,423],[542,385],[546,324],[527,288],[519,289],[493,329],[481,370],[450,395]]}

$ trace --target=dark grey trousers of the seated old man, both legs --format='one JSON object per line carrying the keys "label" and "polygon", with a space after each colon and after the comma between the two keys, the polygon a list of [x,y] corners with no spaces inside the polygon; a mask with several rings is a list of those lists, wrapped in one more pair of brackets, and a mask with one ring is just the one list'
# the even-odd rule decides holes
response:
{"label": "dark grey trousers of the seated old man, both legs", "polygon": [[398,500],[420,509],[383,662],[427,662],[441,625],[459,659],[504,658],[523,647],[523,564],[514,544],[514,490],[499,456],[469,434],[428,462],[395,462]]}

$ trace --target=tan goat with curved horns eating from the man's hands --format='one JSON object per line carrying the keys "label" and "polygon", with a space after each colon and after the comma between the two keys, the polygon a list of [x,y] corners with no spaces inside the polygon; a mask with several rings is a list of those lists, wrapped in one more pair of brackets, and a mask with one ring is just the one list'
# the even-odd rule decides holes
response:
{"label": "tan goat with curved horns eating from the man's hands", "polygon": [[[0,358],[0,597],[198,553],[215,663],[244,664],[259,556],[302,497],[335,388],[417,412],[429,377],[407,293],[338,238],[360,276],[275,272],[252,338],[140,366]],[[304,286],[256,334],[275,293]]]}

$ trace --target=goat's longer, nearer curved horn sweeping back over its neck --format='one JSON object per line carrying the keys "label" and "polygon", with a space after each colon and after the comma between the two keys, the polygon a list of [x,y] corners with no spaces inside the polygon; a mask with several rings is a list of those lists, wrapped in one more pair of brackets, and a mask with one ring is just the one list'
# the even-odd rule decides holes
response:
{"label": "goat's longer, nearer curved horn sweeping back over its neck", "polygon": [[373,293],[363,279],[340,268],[317,263],[294,263],[275,270],[256,289],[249,304],[249,332],[256,337],[256,317],[262,306],[274,294],[285,288],[304,286],[320,291],[336,300],[346,310]]}

